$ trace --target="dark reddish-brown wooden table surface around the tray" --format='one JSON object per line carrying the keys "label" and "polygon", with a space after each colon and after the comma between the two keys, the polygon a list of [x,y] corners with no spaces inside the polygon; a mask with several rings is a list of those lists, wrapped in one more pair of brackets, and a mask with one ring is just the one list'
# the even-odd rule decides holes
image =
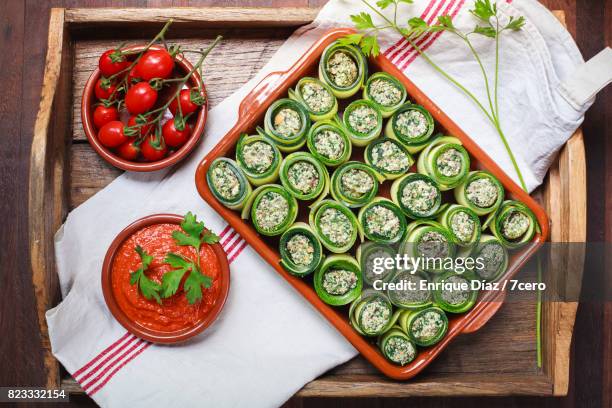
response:
{"label": "dark reddish-brown wooden table surface around the tray", "polygon": [[[468,0],[469,1],[469,0]],[[0,386],[44,383],[40,336],[30,280],[27,180],[30,144],[46,53],[51,7],[310,6],[325,0],[2,0],[0,6]],[[564,10],[585,58],[612,45],[612,0],[543,0]],[[612,241],[612,88],[602,92],[583,125],[588,170],[588,240]],[[610,257],[612,258],[612,257]],[[611,259],[596,265],[611,270]],[[608,273],[609,275],[609,273]],[[596,277],[585,276],[585,280]],[[288,407],[560,406],[612,407],[612,303],[583,303],[574,332],[565,398],[298,399]],[[87,397],[72,399],[91,405]],[[46,405],[48,406],[48,405]],[[66,405],[62,405],[66,406]]]}

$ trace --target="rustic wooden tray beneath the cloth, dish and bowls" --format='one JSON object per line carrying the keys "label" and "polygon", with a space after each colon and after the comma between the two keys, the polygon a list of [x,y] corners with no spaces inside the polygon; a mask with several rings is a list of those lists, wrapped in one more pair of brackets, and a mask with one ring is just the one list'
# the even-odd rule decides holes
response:
{"label": "rustic wooden tray beneath the cloth, dish and bowls", "polygon": [[[48,387],[82,392],[50,352],[44,313],[60,301],[53,235],[68,211],[120,174],[85,142],[78,119],[80,91],[97,55],[122,40],[154,34],[170,17],[175,19],[172,36],[184,44],[207,42],[221,33],[226,39],[207,61],[205,74],[214,106],[250,79],[297,27],[315,15],[316,10],[305,8],[52,10],[29,186],[32,281]],[[536,198],[551,218],[553,242],[585,240],[586,174],[580,132],[562,150]],[[541,369],[536,366],[534,300],[502,307],[477,335],[457,339],[413,381],[388,380],[357,357],[307,384],[298,395],[563,395],[576,307],[543,305]]]}

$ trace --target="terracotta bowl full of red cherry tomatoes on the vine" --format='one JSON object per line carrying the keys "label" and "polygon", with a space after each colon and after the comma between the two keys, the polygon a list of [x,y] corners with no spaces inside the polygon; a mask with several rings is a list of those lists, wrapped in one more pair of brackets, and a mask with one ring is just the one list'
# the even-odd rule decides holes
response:
{"label": "terracotta bowl full of red cherry tomatoes on the vine", "polygon": [[180,48],[150,44],[104,52],[81,101],[94,150],[130,171],[160,170],[185,158],[206,124],[203,59],[194,68]]}

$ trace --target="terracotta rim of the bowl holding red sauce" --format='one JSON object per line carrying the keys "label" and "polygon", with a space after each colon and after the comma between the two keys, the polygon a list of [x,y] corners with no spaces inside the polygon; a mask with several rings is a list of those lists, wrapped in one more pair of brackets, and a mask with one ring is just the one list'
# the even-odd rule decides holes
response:
{"label": "terracotta rim of the bowl holding red sauce", "polygon": [[208,314],[206,314],[197,324],[194,326],[188,327],[186,329],[181,329],[179,331],[174,332],[166,332],[153,330],[149,328],[145,328],[134,320],[130,319],[119,307],[117,300],[115,299],[112,281],[111,281],[111,273],[112,273],[112,265],[117,254],[117,251],[123,244],[123,242],[128,239],[132,234],[141,230],[142,228],[148,227],[150,225],[155,224],[180,224],[183,220],[182,216],[174,215],[174,214],[155,214],[149,215],[147,217],[141,218],[139,220],[134,221],[123,231],[117,235],[117,237],[113,240],[110,247],[106,251],[106,256],[104,257],[104,263],[102,264],[102,293],[104,294],[104,300],[106,301],[106,305],[110,309],[111,313],[117,319],[119,323],[127,331],[134,334],[137,337],[140,337],[144,340],[148,340],[153,343],[161,343],[161,344],[171,344],[171,343],[179,343],[185,340],[188,340],[200,333],[202,333],[207,327],[209,327],[219,316],[221,309],[225,305],[225,301],[227,299],[227,294],[229,292],[230,285],[230,271],[229,271],[229,263],[227,261],[227,255],[225,251],[221,247],[221,244],[214,244],[212,248],[219,259],[219,265],[221,270],[221,288],[219,292],[219,297],[217,298],[215,304],[211,308]]}

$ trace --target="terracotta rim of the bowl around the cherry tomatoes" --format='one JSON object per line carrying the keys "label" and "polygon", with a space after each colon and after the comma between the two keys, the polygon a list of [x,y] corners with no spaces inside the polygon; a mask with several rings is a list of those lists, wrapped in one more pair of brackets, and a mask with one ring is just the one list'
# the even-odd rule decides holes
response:
{"label": "terracotta rim of the bowl around the cherry tomatoes", "polygon": [[[143,45],[126,47],[124,48],[124,51],[138,51],[142,48],[144,48]],[[162,47],[151,47],[151,49],[160,48]],[[193,65],[181,55],[177,55],[175,57],[175,62],[175,73],[178,73],[180,75],[186,74],[193,68]],[[129,171],[160,170],[165,167],[172,166],[173,164],[176,164],[179,161],[183,160],[200,142],[202,134],[204,133],[204,125],[206,125],[206,118],[208,115],[208,98],[206,98],[206,102],[204,103],[204,105],[202,105],[202,109],[200,109],[200,112],[195,118],[195,121],[189,121],[193,129],[189,140],[187,140],[187,142],[183,146],[171,153],[169,156],[166,156],[165,158],[155,162],[130,161],[119,157],[115,152],[103,146],[98,141],[98,131],[93,124],[94,109],[92,107],[92,104],[96,101],[96,97],[94,94],[94,86],[98,79],[100,79],[100,76],[100,69],[96,68],[87,80],[87,83],[85,84],[85,89],[83,89],[83,97],[81,98],[81,121],[83,123],[83,130],[85,131],[85,135],[87,135],[87,139],[89,140],[91,146],[96,152],[98,152],[100,156],[102,156],[104,160],[106,160],[113,166]],[[204,91],[204,96],[206,96],[206,88],[202,83],[202,78],[197,72],[193,73],[193,75],[189,79],[188,84],[190,87],[197,87],[202,84],[202,90]]]}

